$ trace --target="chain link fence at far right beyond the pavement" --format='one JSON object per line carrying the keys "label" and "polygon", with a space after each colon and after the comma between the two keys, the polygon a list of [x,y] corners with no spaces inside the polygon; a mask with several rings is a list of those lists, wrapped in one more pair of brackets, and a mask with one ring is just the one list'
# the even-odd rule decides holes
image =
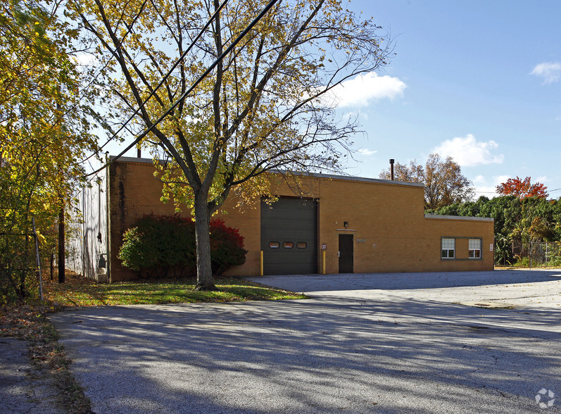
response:
{"label": "chain link fence at far right beyond the pavement", "polygon": [[561,242],[512,242],[512,257],[515,263],[508,264],[529,268],[561,266]]}

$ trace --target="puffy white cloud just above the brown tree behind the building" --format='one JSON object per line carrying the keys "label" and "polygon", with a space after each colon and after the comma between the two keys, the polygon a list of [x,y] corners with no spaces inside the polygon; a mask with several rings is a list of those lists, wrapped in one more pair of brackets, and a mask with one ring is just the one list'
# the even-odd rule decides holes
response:
{"label": "puffy white cloud just above the brown tree behind the building", "polygon": [[433,152],[439,153],[442,158],[451,156],[454,161],[462,167],[473,167],[481,164],[500,164],[504,156],[495,156],[491,150],[498,148],[494,141],[477,142],[472,134],[467,134],[464,138],[455,137],[447,139],[437,146]]}

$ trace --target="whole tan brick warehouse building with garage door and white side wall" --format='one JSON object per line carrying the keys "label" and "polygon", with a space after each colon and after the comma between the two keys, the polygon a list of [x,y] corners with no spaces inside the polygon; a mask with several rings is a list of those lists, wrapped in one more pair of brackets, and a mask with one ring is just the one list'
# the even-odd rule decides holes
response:
{"label": "whole tan brick warehouse building with garage door and white side wall", "polygon": [[[119,158],[82,190],[68,268],[99,282],[136,278],[117,258],[122,234],[144,214],[175,211],[160,201],[153,172],[151,159]],[[260,275],[262,266],[265,275],[493,270],[493,219],[425,215],[422,184],[313,175],[304,187],[301,198],[279,180],[278,201],[256,199],[243,211],[235,195],[227,200],[218,216],[248,250],[227,275]]]}

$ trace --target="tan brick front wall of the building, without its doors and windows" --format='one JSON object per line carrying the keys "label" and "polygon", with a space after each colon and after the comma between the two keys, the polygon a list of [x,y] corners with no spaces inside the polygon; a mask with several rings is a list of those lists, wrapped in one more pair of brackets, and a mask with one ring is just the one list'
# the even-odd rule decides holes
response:
{"label": "tan brick front wall of the building, without its doors and windows", "polygon": [[[327,273],[339,272],[339,234],[353,234],[355,272],[417,272],[492,270],[493,222],[425,218],[423,188],[410,184],[351,179],[304,180],[305,196],[318,203],[318,270],[321,244],[327,244]],[[294,196],[294,185],[279,181],[275,194]],[[122,233],[144,214],[173,214],[172,203],[160,201],[162,184],[146,162],[118,162],[110,169],[112,281],[128,280],[134,273],[122,268],[116,254]],[[219,217],[239,229],[248,250],[246,263],[229,275],[254,276],[260,272],[260,203],[241,211],[231,196]],[[188,212],[184,213],[188,215]],[[348,227],[343,227],[343,222]],[[456,260],[441,260],[441,237],[458,237]],[[464,238],[462,238],[464,237]],[[482,238],[482,259],[467,259],[467,238]],[[357,239],[360,242],[357,242]],[[363,242],[364,241],[364,242]]]}

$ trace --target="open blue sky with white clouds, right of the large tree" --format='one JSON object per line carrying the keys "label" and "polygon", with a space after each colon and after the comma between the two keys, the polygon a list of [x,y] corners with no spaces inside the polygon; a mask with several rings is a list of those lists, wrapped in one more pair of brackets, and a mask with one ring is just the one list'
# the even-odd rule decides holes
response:
{"label": "open blue sky with white clouds, right of the large tree", "polygon": [[[561,1],[357,0],[349,8],[389,30],[396,56],[355,82],[360,163],[378,177],[389,158],[452,156],[492,197],[508,177],[531,177],[561,196]],[[353,86],[353,85],[349,85]],[[363,91],[363,95],[356,93]],[[555,190],[555,191],[552,191]]]}

